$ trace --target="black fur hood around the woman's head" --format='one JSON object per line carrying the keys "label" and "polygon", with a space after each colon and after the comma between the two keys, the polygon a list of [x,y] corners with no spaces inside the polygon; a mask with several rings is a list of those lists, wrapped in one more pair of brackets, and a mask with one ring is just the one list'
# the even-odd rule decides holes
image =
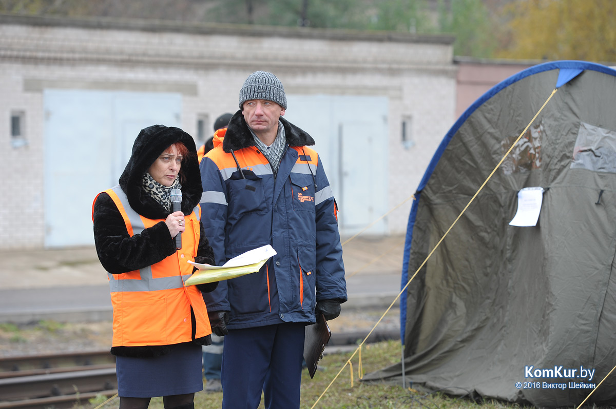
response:
{"label": "black fur hood around the woman's head", "polygon": [[197,159],[195,141],[188,133],[176,127],[152,125],[144,128],[137,135],[132,145],[131,159],[129,159],[124,172],[120,176],[120,187],[128,196],[131,207],[140,215],[150,219],[164,219],[169,210],[156,202],[141,187],[142,178],[156,161],[158,156],[168,146],[181,142],[188,148],[188,155],[182,161],[180,168],[180,184],[182,185],[182,212],[189,215],[200,202],[201,174]]}

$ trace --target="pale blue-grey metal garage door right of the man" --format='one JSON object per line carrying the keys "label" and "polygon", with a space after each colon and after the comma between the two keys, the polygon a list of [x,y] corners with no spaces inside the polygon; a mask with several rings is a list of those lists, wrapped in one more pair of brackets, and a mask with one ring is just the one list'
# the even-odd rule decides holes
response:
{"label": "pale blue-grey metal garage door right of the man", "polygon": [[[387,212],[387,97],[287,95],[285,119],[310,133],[340,209],[342,234],[350,235]],[[387,232],[379,220],[368,234]]]}

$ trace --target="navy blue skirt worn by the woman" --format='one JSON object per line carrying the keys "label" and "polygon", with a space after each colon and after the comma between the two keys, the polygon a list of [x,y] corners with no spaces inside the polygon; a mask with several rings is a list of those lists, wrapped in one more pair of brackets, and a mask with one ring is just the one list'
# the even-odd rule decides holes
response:
{"label": "navy blue skirt worn by the woman", "polygon": [[201,346],[177,344],[155,358],[116,357],[120,397],[158,397],[203,390]]}

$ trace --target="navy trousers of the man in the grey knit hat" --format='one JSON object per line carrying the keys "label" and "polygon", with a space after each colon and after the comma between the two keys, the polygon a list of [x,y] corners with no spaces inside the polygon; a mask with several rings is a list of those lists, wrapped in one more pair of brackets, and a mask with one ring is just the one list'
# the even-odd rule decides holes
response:
{"label": "navy trousers of the man in the grey knit hat", "polygon": [[299,409],[304,323],[229,330],[222,351],[222,409]]}

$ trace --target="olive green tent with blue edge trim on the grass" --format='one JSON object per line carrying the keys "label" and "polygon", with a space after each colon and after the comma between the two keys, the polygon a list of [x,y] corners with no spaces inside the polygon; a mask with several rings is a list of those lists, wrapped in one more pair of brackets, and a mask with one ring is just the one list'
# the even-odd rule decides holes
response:
{"label": "olive green tent with blue edge trim on the grass", "polygon": [[[538,221],[512,226],[523,188],[542,189]],[[616,71],[550,62],[496,85],[447,133],[415,196],[403,362],[365,381],[581,403],[616,365]],[[589,402],[616,404],[616,375]]]}

